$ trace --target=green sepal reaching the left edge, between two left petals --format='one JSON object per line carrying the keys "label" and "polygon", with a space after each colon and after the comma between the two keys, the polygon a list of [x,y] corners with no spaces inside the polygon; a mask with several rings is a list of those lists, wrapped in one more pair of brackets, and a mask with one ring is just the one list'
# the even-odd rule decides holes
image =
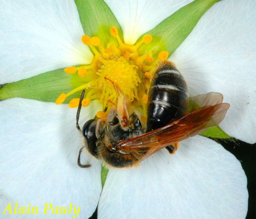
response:
{"label": "green sepal reaching the left edge, between two left petals", "polygon": [[[77,74],[68,75],[64,69],[57,69],[21,81],[0,85],[0,100],[21,97],[55,102],[61,93],[68,93],[91,79],[89,76],[81,78]],[[77,92],[68,97],[64,103],[79,96],[80,92]]]}

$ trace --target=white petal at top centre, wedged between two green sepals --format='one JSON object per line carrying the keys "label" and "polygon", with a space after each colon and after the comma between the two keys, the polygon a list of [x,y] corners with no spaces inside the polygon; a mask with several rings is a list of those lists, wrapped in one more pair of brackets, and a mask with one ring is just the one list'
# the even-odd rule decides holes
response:
{"label": "white petal at top centre, wedged between two green sepals", "polygon": [[142,34],[193,0],[128,0],[122,1],[122,4],[119,0],[105,2],[122,27],[125,43],[134,44]]}

